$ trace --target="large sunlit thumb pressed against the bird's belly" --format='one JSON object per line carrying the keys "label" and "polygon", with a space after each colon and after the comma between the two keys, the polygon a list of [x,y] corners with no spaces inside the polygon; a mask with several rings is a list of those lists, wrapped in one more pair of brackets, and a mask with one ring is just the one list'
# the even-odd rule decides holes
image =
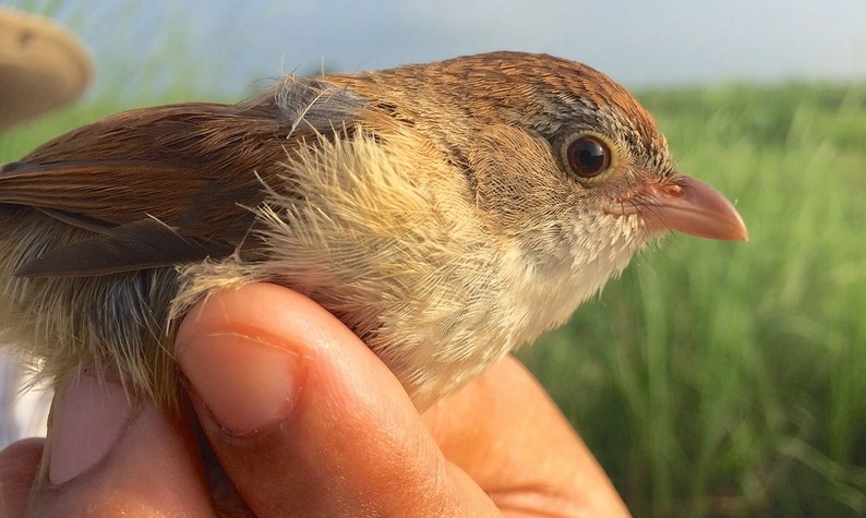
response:
{"label": "large sunlit thumb pressed against the bird's belly", "polygon": [[339,321],[275,285],[196,306],[176,340],[202,429],[257,516],[480,516],[405,390]]}

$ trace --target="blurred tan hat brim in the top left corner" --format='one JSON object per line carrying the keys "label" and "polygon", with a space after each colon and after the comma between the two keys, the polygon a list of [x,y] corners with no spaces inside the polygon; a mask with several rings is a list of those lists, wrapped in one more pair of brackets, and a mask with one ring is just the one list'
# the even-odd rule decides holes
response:
{"label": "blurred tan hat brim in the top left corner", "polygon": [[0,8],[0,130],[76,99],[93,75],[75,36],[44,16]]}

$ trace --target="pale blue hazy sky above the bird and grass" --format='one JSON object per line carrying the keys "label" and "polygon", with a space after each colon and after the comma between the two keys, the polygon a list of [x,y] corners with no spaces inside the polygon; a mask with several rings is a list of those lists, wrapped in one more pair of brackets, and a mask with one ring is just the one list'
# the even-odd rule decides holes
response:
{"label": "pale blue hazy sky above the bird and grass", "polygon": [[120,76],[132,95],[172,77],[192,91],[241,95],[286,72],[498,49],[582,61],[630,87],[866,80],[864,0],[11,3],[50,12],[82,37],[100,72],[97,92],[117,88]]}

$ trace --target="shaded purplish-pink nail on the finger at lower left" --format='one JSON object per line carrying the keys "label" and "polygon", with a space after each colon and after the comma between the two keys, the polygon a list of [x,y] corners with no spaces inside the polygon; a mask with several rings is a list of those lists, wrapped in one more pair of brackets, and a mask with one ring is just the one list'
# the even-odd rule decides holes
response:
{"label": "shaded purplish-pink nail on the finger at lower left", "polygon": [[133,414],[134,407],[119,383],[97,377],[93,371],[68,376],[51,407],[51,483],[72,480],[105,458],[129,429]]}

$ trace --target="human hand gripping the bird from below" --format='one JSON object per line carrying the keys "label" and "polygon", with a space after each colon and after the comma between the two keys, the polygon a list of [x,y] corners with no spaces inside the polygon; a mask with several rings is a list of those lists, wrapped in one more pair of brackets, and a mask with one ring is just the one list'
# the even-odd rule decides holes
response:
{"label": "human hand gripping the bird from below", "polygon": [[[627,516],[514,359],[419,417],[349,329],[266,284],[216,293],[176,344],[201,431],[257,516]],[[3,516],[238,511],[214,499],[196,418],[130,402],[112,377],[64,381],[48,439],[0,453]]]}

